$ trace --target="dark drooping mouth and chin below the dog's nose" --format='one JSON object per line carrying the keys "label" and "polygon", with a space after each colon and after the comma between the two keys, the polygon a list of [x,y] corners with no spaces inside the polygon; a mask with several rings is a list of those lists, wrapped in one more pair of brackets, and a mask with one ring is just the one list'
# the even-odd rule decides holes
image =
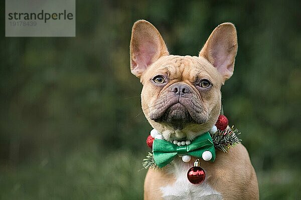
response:
{"label": "dark drooping mouth and chin below the dog's nose", "polygon": [[157,117],[153,117],[152,119],[156,122],[167,123],[174,129],[180,130],[187,124],[199,123],[192,117],[187,107],[180,102],[169,106],[162,112],[162,115],[157,115]]}

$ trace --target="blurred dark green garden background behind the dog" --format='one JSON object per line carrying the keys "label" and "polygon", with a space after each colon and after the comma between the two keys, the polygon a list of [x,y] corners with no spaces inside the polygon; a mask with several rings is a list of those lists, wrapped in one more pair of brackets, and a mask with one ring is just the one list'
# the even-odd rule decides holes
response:
{"label": "blurred dark green garden background behind the dog", "polygon": [[129,40],[143,18],[180,55],[197,55],[219,23],[236,25],[224,113],[242,132],[260,198],[300,199],[300,2],[77,0],[76,37],[61,38],[5,37],[2,14],[0,198],[142,199],[151,127]]}

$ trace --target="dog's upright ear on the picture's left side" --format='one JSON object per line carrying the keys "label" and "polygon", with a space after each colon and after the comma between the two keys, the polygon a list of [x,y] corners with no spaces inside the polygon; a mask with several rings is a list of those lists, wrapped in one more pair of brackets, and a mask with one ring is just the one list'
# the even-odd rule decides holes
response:
{"label": "dog's upright ear on the picture's left side", "polygon": [[148,21],[134,23],[130,39],[130,70],[140,77],[145,69],[163,55],[169,55],[157,28]]}

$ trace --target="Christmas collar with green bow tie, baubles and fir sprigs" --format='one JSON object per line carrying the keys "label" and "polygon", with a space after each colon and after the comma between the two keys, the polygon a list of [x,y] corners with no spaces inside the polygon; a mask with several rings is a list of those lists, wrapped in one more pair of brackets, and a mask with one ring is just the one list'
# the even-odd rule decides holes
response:
{"label": "Christmas collar with green bow tie, baubles and fir sprigs", "polygon": [[[225,115],[220,114],[216,124],[208,131],[193,141],[166,141],[162,134],[153,129],[146,139],[146,144],[152,148],[146,158],[143,159],[144,168],[162,168],[171,163],[178,155],[184,162],[189,162],[191,156],[196,157],[194,166],[187,172],[188,180],[193,184],[202,183],[205,180],[205,171],[200,167],[200,159],[205,161],[215,160],[215,150],[228,152],[231,146],[241,142],[238,138],[238,130],[234,126],[228,127],[228,119]],[[156,139],[155,139],[156,138]]]}

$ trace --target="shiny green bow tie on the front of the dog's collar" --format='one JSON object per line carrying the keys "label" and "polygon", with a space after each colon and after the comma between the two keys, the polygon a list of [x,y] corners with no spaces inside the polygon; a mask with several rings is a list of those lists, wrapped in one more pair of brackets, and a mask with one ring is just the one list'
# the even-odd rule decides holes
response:
{"label": "shiny green bow tie on the front of the dog's collar", "polygon": [[215,159],[215,148],[209,132],[201,134],[189,145],[178,146],[163,139],[155,139],[153,143],[154,160],[160,168],[171,163],[177,155],[202,157],[202,153],[206,150],[212,153],[210,161],[213,162]]}

